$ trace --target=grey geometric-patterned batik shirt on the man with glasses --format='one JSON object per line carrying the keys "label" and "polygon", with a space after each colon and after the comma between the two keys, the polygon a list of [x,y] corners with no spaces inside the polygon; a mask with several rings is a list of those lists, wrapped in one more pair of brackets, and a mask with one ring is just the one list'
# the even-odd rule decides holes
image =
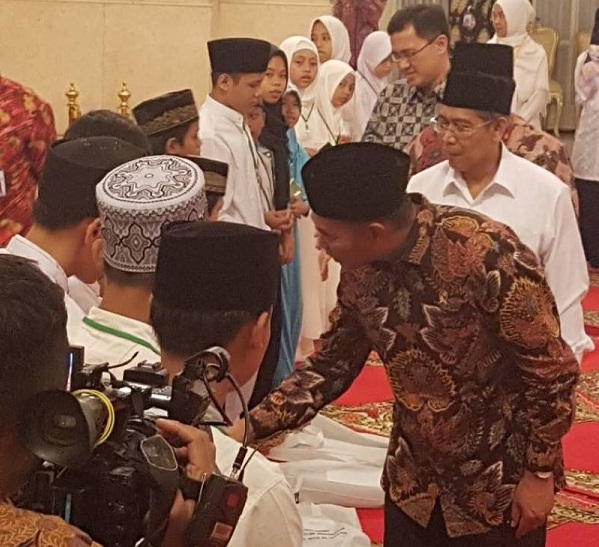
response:
{"label": "grey geometric-patterned batik shirt on the man with glasses", "polygon": [[444,89],[445,82],[427,93],[411,86],[405,79],[388,85],[379,95],[362,141],[403,151],[430,125]]}

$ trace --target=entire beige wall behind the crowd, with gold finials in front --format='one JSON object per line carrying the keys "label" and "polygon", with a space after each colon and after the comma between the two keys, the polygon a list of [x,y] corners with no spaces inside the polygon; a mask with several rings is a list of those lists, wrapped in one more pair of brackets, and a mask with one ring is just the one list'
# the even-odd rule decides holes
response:
{"label": "entire beige wall behind the crowd, with gold finials in front", "polygon": [[130,105],[191,87],[210,88],[206,42],[255,36],[280,43],[330,13],[326,0],[0,0],[0,72],[27,85],[67,124],[73,81],[83,112],[115,110],[123,81]]}

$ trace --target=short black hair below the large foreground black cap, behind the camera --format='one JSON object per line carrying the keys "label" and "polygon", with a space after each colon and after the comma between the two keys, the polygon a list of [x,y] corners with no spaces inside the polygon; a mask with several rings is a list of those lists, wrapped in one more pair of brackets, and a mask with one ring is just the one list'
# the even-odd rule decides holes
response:
{"label": "short black hair below the large foreground black cap, behind the camera", "polygon": [[260,313],[248,311],[187,311],[153,298],[150,324],[163,351],[190,357],[212,346],[226,348]]}

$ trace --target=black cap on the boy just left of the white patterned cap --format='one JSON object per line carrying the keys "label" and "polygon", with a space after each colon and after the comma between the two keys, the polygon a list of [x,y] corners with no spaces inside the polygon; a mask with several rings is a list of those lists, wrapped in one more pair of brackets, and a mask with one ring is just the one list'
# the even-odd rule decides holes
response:
{"label": "black cap on the boy just left of the white patterned cap", "polygon": [[116,137],[56,141],[48,149],[37,199],[52,210],[96,211],[96,185],[115,167],[147,155]]}

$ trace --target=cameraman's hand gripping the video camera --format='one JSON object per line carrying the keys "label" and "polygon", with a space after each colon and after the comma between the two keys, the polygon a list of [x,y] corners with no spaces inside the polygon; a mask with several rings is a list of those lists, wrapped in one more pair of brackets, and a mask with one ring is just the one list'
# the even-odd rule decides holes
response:
{"label": "cameraman's hand gripping the video camera", "polygon": [[[160,434],[177,447],[177,460],[190,479],[204,481],[216,470],[216,448],[204,431],[174,420],[157,420],[156,426]],[[162,547],[185,547],[194,509],[195,503],[184,500],[181,492],[177,492]]]}

